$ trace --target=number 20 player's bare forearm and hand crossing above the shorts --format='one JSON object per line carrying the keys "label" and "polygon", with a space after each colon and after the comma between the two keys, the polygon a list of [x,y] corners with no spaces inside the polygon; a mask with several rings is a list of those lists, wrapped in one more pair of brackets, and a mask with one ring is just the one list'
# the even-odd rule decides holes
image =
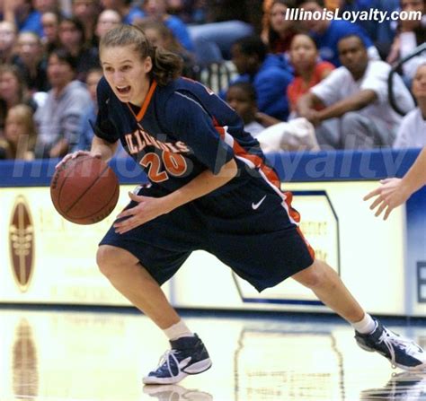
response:
{"label": "number 20 player's bare forearm and hand crossing above the shorts", "polygon": [[207,195],[218,187],[224,186],[235,177],[236,173],[236,162],[234,159],[231,159],[222,166],[217,174],[214,174],[210,170],[204,170],[188,184],[176,189],[167,196],[155,198],[138,196],[129,192],[130,199],[137,202],[138,205],[121,212],[117,216],[117,219],[125,219],[116,222],[114,228],[116,232],[122,234],[155,219],[155,217],[170,213],[177,207]]}

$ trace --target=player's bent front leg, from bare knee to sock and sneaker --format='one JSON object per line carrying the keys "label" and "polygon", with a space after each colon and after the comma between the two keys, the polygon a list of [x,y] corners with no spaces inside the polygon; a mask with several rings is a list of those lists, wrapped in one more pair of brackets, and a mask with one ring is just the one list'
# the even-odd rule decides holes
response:
{"label": "player's bent front leg, from bare knee to sock and sneaker", "polygon": [[177,383],[189,374],[210,368],[206,347],[185,326],[160,285],[140,265],[137,257],[126,249],[101,245],[96,259],[111,284],[169,336],[171,349],[164,353],[158,368],[143,379],[144,383]]}

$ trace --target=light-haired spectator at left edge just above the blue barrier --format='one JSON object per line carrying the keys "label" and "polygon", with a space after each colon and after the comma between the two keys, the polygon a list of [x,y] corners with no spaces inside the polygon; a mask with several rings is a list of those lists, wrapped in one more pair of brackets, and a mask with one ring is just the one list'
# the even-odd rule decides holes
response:
{"label": "light-haired spectator at left edge just above the blue barrier", "polygon": [[4,155],[4,159],[34,159],[37,131],[32,114],[31,107],[25,104],[18,104],[9,109],[4,126],[4,139],[0,139],[0,154]]}

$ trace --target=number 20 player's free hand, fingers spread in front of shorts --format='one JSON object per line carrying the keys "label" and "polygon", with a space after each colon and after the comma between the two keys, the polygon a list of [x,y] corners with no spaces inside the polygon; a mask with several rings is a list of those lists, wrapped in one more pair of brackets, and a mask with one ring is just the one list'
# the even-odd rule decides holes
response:
{"label": "number 20 player's free hand, fingers spread in front of shorts", "polygon": [[145,222],[154,220],[155,217],[170,212],[161,197],[139,196],[133,194],[133,192],[129,192],[129,197],[132,201],[138,202],[138,205],[121,212],[117,216],[118,220],[123,219],[114,223],[115,232],[119,234],[124,234]]}

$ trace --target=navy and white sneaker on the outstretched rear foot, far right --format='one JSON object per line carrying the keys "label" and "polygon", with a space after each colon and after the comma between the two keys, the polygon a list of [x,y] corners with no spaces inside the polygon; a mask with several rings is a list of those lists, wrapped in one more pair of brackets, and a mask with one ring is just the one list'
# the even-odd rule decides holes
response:
{"label": "navy and white sneaker on the outstretched rear foot, far right", "polygon": [[388,330],[378,320],[376,322],[377,327],[371,334],[363,335],[355,331],[355,339],[363,350],[381,353],[393,368],[426,370],[426,353],[420,345]]}

